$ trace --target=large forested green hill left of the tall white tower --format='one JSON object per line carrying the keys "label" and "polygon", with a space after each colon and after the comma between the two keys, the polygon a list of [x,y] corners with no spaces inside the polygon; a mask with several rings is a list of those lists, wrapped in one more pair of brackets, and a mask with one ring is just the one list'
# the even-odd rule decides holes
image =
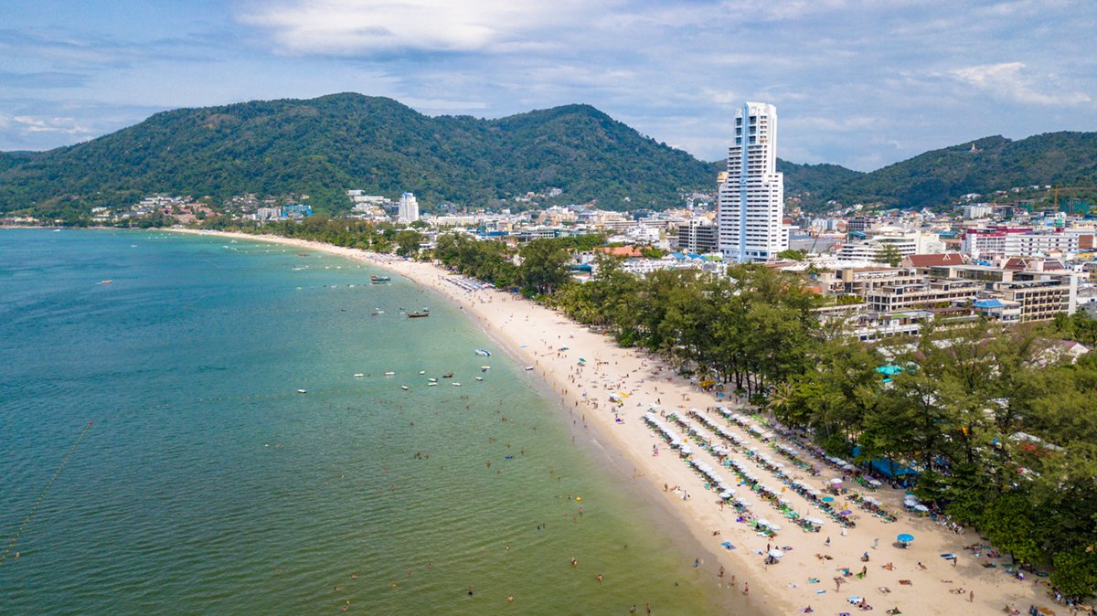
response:
{"label": "large forested green hill left of the tall white tower", "polygon": [[589,105],[429,117],[348,93],[174,110],[76,146],[0,153],[0,212],[71,215],[155,192],[305,193],[332,212],[348,189],[484,206],[551,187],[561,203],[661,209],[711,189],[710,169]]}

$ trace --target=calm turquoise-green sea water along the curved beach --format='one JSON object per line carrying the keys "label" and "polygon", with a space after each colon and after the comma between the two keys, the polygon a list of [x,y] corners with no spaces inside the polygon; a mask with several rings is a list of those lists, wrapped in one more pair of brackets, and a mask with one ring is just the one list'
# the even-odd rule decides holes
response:
{"label": "calm turquoise-green sea water along the curved beach", "polygon": [[296,252],[0,231],[0,614],[717,611],[691,541],[461,310]]}

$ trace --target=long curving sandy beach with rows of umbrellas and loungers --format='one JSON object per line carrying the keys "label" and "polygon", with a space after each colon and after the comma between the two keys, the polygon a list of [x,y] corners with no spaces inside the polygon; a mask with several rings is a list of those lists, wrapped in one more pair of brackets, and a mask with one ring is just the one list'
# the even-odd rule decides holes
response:
{"label": "long curving sandy beach with rows of umbrellas and loungers", "polygon": [[[905,493],[901,489],[883,486],[867,491],[852,481],[842,483],[847,493],[832,497],[834,505],[857,516],[856,527],[844,532],[817,502],[789,484],[795,480],[823,490],[827,482],[841,478],[840,469],[821,464],[819,474],[808,476],[776,448],[790,444],[783,437],[762,442],[759,435],[714,410],[724,404],[732,412],[753,412],[739,411],[743,403],[734,397],[703,392],[646,353],[622,349],[611,336],[592,333],[551,309],[494,288],[472,290],[478,285],[459,285],[459,281],[467,278],[450,275],[429,263],[273,236],[183,232],[270,241],[346,256],[387,269],[457,303],[489,335],[517,355],[522,365],[531,366],[531,372],[545,380],[558,398],[562,412],[566,410],[577,426],[589,426],[591,438],[597,435],[611,441],[613,448],[634,468],[637,481],[648,482],[654,493],[666,499],[667,507],[711,550],[712,556],[704,556],[697,566],[710,570],[726,592],[746,594],[742,602],[735,602],[737,605],[745,602],[754,612],[776,614],[802,613],[810,607],[813,613],[827,615],[867,612],[855,605],[861,600],[880,613],[897,609],[903,614],[1003,614],[1007,607],[1027,613],[1030,605],[1060,614],[1067,612],[1048,596],[1045,578],[1026,574],[1019,580],[1008,574],[1008,555],[997,555],[973,529],[957,534],[930,517],[905,511]],[[622,404],[611,404],[611,393]],[[764,500],[740,483],[732,467],[723,466],[698,443],[688,443],[693,459],[715,467],[736,497],[753,503],[746,510],[753,517],[765,517],[781,527],[774,536],[767,537],[751,525],[737,522],[739,513],[717,497],[717,489],[706,488],[709,479],[643,421],[652,404],[657,404],[657,410],[664,413],[677,413],[698,434],[710,437],[713,445],[728,447],[727,459],[738,460],[740,468],[757,477],[758,484],[774,488],[772,503]],[[687,417],[690,409],[697,409],[693,417]],[[680,425],[665,417],[658,419],[679,435],[686,435]],[[749,423],[758,424],[757,419]],[[713,426],[725,427],[740,441],[722,438]],[[581,437],[583,432],[579,434]],[[804,461],[821,463],[808,457],[805,447],[794,447]],[[750,454],[750,448],[757,452]],[[762,454],[776,464],[766,463],[760,458]],[[785,465],[788,476],[780,477],[771,470],[780,468],[778,464]],[[897,520],[889,523],[871,515],[855,503],[851,498],[855,492],[898,512]],[[802,529],[778,510],[777,499],[788,501],[782,505],[787,512],[817,517],[825,524],[819,532]],[[914,537],[906,548],[896,541],[903,534]],[[722,546],[725,543],[732,547]],[[966,549],[973,545],[985,547]],[[783,550],[783,556],[767,564],[767,549],[777,548]],[[863,560],[866,554],[868,561]],[[858,575],[862,570],[863,577]],[[842,583],[837,584],[836,579]]]}

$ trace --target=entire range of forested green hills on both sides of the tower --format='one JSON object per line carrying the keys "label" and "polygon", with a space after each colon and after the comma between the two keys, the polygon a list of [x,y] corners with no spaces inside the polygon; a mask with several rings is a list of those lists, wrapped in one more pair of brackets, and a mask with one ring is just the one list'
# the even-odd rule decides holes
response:
{"label": "entire range of forested green hills on both sides of the tower", "polygon": [[[943,206],[1014,186],[1097,185],[1097,133],[986,137],[871,173],[778,160],[785,195],[808,210],[844,205]],[[0,152],[0,213],[73,218],[148,193],[215,201],[242,193],[308,194],[319,212],[346,191],[501,206],[527,192],[550,203],[664,209],[711,192],[725,161],[703,162],[589,105],[499,119],[429,117],[396,101],[344,93],[156,114],[111,135],[46,152]],[[545,199],[539,199],[545,203]]]}

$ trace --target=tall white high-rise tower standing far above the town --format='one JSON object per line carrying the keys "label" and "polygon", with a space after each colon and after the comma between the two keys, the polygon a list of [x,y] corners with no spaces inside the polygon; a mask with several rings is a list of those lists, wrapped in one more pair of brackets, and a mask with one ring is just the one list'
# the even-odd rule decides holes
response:
{"label": "tall white high-rise tower standing far above the town", "polygon": [[727,180],[720,185],[720,252],[767,261],[789,248],[784,176],[777,172],[777,107],[747,103],[735,114]]}

